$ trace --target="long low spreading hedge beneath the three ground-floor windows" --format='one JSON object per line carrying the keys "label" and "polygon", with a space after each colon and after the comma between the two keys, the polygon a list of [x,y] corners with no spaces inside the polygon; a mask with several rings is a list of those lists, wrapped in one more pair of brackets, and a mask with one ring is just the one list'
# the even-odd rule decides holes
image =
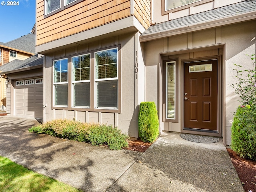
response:
{"label": "long low spreading hedge beneath the three ground-floor windows", "polygon": [[129,137],[121,130],[106,124],[82,123],[74,120],[53,120],[33,126],[29,132],[48,134],[79,142],[88,142],[92,145],[108,145],[110,149],[120,150],[128,147]]}

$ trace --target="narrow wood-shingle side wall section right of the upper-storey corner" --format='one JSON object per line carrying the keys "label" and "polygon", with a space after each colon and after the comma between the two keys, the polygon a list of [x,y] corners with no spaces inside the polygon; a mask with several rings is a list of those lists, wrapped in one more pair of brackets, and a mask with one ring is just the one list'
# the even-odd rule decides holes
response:
{"label": "narrow wood-shingle side wall section right of the upper-storey corner", "polygon": [[134,16],[148,29],[151,24],[150,18],[151,0],[134,0]]}

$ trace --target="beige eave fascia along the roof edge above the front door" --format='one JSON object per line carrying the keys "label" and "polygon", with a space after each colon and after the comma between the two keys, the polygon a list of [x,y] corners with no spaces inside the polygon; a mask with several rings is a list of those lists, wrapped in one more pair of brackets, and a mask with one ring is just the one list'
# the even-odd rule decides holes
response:
{"label": "beige eave fascia along the roof edge above the front door", "polygon": [[174,36],[174,35],[179,35],[179,34],[184,34],[184,33],[189,33],[189,32],[195,32],[195,31],[204,30],[204,29],[208,29],[208,28],[230,25],[230,24],[234,24],[234,23],[238,23],[238,22],[245,22],[245,21],[254,20],[254,19],[256,19],[256,11],[247,12],[247,13],[239,14],[239,15],[234,15],[234,16],[230,16],[230,17],[226,17],[226,18],[221,18],[221,19],[213,20],[213,21],[209,21],[209,22],[203,22],[203,23],[195,24],[195,25],[191,25],[191,26],[166,30],[163,32],[156,32],[156,33],[151,33],[148,35],[142,35],[142,36],[140,36],[140,42],[147,42],[147,41],[156,40],[156,39],[160,39],[160,38],[166,38],[169,36]]}

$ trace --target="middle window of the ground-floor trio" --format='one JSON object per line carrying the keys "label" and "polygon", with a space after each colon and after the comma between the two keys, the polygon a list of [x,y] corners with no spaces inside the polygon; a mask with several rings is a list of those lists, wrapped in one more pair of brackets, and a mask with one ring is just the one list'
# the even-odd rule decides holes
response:
{"label": "middle window of the ground-floor trio", "polygon": [[90,107],[90,54],[72,57],[74,107]]}

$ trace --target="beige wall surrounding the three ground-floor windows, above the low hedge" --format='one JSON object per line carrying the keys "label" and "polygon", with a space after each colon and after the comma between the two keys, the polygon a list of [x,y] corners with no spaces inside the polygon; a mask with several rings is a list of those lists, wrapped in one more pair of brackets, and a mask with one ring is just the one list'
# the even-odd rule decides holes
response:
{"label": "beige wall surrounding the three ground-floor windows, above the low hedge", "polygon": [[[44,67],[44,122],[52,119],[73,119],[82,122],[100,122],[118,126],[124,133],[131,137],[138,137],[135,128],[134,111],[134,33],[113,36],[108,39],[100,39],[88,42],[80,46],[52,52],[45,55]],[[121,113],[117,112],[91,112],[79,110],[52,109],[52,59],[68,56],[79,52],[97,50],[98,48],[108,49],[108,46],[121,45]],[[91,80],[93,81],[93,80]]]}

